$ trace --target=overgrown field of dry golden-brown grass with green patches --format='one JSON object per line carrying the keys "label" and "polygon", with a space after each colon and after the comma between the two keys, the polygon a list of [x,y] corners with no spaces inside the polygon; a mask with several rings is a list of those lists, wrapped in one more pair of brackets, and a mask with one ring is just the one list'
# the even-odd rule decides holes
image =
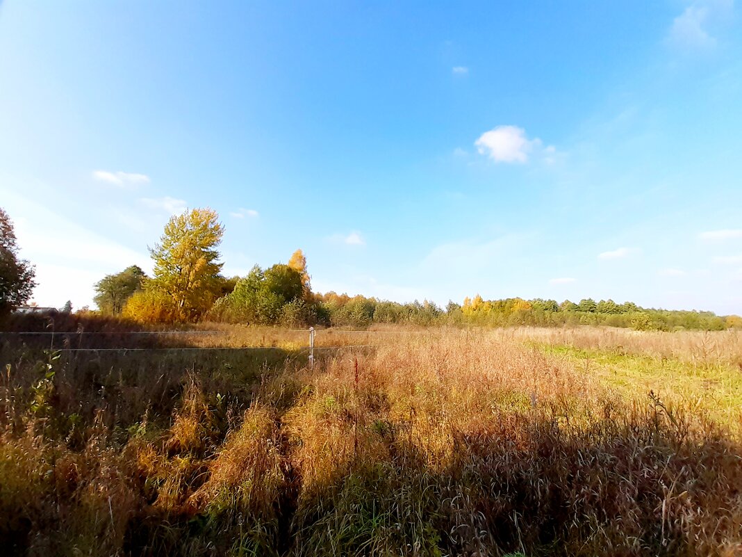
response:
{"label": "overgrown field of dry golden-brown grass with green patches", "polygon": [[10,555],[742,554],[740,333],[82,329],[0,345]]}

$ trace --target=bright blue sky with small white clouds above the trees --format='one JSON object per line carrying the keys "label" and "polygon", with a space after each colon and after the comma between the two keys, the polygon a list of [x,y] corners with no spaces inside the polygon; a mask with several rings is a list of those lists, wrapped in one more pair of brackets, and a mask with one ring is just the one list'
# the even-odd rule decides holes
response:
{"label": "bright blue sky with small white clouds above the trees", "polygon": [[174,212],[315,290],[742,313],[732,0],[0,4],[0,206],[39,304]]}

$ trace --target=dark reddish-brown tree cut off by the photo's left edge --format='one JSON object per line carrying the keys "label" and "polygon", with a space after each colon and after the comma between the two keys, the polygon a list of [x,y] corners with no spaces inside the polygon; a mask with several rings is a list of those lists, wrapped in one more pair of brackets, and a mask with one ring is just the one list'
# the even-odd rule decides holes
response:
{"label": "dark reddish-brown tree cut off by the photo's left edge", "polygon": [[0,208],[0,313],[7,313],[31,297],[36,272],[28,261],[18,257],[13,221]]}

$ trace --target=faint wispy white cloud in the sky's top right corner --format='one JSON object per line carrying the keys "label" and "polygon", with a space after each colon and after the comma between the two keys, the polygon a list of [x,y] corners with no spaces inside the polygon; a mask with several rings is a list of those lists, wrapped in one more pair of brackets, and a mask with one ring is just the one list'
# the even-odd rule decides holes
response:
{"label": "faint wispy white cloud in the sky's top right corner", "polygon": [[668,41],[681,48],[713,48],[716,38],[709,32],[716,22],[729,19],[733,0],[696,0],[672,21]]}

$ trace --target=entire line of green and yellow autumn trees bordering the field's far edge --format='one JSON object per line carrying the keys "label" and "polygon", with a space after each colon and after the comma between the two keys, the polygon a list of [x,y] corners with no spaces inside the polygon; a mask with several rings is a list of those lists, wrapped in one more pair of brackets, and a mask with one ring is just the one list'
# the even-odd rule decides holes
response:
{"label": "entire line of green and yellow autumn trees bordering the field's far edge", "polygon": [[[18,257],[13,224],[0,209],[0,313],[30,298],[34,269]],[[706,311],[657,310],[613,300],[580,302],[520,298],[484,300],[481,296],[449,302],[400,304],[388,300],[315,293],[306,257],[296,250],[286,264],[247,276],[222,274],[219,247],[223,224],[212,209],[191,209],[170,218],[160,241],[149,251],[153,276],[137,265],[103,277],[93,301],[99,313],[142,323],[202,320],[249,325],[305,327],[326,325],[365,328],[372,324],[560,326],[607,325],[637,330],[723,330],[742,328],[739,316]],[[71,310],[71,304],[66,304]]]}

